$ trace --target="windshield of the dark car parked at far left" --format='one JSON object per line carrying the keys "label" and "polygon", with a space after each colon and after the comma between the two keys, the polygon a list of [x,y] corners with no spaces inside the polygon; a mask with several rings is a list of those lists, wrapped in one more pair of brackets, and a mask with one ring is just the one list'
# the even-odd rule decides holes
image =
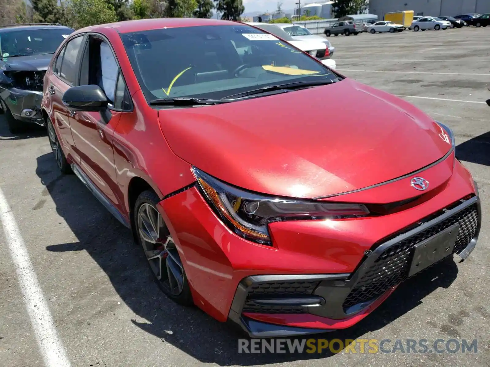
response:
{"label": "windshield of the dark car parked at far left", "polygon": [[73,29],[47,28],[4,31],[0,33],[2,57],[54,53]]}

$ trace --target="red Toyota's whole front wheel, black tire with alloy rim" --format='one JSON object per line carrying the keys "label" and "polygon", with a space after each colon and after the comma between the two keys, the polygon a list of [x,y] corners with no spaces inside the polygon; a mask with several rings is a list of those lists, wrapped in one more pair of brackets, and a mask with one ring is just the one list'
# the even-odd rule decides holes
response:
{"label": "red Toyota's whole front wheel, black tire with alloy rim", "polygon": [[177,303],[190,306],[194,302],[184,266],[170,230],[156,208],[160,201],[150,190],[138,196],[134,206],[136,238],[163,293]]}

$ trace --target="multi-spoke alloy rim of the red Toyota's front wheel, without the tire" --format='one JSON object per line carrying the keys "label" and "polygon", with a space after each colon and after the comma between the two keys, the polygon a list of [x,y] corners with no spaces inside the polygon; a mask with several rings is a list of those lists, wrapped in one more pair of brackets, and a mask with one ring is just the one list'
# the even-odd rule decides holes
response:
{"label": "multi-spoke alloy rim of the red Toyota's front wheel, without the tire", "polygon": [[147,203],[138,209],[138,235],[151,271],[173,296],[182,293],[184,270],[175,242],[158,210]]}

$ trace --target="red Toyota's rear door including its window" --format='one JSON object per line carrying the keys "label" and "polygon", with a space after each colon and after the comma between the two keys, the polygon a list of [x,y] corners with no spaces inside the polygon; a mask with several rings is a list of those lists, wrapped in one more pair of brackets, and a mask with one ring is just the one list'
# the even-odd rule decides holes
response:
{"label": "red Toyota's rear door including its window", "polygon": [[76,85],[78,60],[81,46],[85,39],[84,35],[70,39],[55,57],[52,69],[53,74],[48,81],[48,98],[51,106],[53,125],[58,131],[58,138],[65,148],[67,156],[73,157],[74,142],[70,131],[71,111],[63,104],[63,94]]}

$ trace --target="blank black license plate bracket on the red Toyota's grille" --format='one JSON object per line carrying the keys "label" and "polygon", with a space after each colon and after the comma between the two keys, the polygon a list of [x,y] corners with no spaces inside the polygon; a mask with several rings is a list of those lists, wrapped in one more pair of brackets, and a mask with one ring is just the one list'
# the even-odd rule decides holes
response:
{"label": "blank black license plate bracket on the red Toyota's grille", "polygon": [[408,276],[428,268],[444,257],[450,255],[456,244],[456,237],[460,229],[459,223],[442,230],[439,233],[417,243],[414,246],[414,257]]}

